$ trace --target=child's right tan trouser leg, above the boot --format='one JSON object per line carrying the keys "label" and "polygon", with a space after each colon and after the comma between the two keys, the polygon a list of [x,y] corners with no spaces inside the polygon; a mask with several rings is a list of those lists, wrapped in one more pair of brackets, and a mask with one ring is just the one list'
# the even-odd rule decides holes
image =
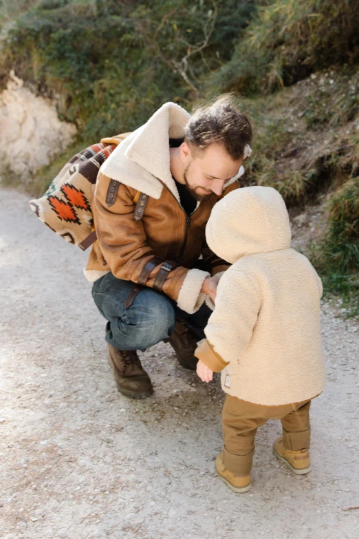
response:
{"label": "child's right tan trouser leg, above the boot", "polygon": [[310,446],[310,402],[300,405],[296,410],[281,419],[283,427],[283,445],[289,451],[301,451]]}

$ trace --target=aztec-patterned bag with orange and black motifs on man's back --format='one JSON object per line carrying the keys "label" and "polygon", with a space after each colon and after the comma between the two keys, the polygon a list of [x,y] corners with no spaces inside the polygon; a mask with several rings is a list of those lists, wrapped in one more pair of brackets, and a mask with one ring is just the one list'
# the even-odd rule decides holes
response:
{"label": "aztec-patterned bag with orange and black motifs on man's back", "polygon": [[116,146],[100,142],[80,151],[61,169],[46,193],[29,202],[38,218],[69,243],[81,246],[94,229],[91,203],[98,171]]}

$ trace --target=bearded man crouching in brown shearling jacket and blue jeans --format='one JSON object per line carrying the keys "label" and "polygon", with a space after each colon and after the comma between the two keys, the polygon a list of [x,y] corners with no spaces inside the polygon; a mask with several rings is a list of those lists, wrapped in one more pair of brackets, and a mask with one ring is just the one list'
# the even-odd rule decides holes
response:
{"label": "bearded man crouching in brown shearling jacket and blue jeans", "polygon": [[118,390],[141,399],[153,388],[136,350],[169,341],[179,363],[195,370],[193,352],[211,313],[204,300],[215,298],[216,275],[229,266],[206,246],[206,222],[239,187],[252,129],[232,98],[221,96],[193,116],[165,103],[120,138],[96,182],[98,241],[85,275],[108,321]]}

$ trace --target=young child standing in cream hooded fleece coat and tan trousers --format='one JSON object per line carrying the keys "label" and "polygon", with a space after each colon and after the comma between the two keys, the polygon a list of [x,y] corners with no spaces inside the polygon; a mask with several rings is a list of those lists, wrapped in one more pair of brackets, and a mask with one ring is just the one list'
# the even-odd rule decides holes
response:
{"label": "young child standing in cream hooded fleece coat and tan trousers", "polygon": [[208,246],[232,266],[219,280],[197,374],[221,371],[224,447],[217,474],[234,492],[250,489],[257,428],[280,419],[273,451],[295,474],[310,472],[309,406],[325,388],[320,336],[322,284],[290,248],[290,221],[271,187],[246,187],[217,202]]}

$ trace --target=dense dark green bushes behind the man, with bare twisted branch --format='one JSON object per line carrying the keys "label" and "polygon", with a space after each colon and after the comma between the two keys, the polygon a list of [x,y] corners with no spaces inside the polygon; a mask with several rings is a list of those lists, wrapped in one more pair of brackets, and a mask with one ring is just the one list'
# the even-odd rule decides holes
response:
{"label": "dense dark green bushes behind the man, with bare twisted branch", "polygon": [[3,33],[10,67],[86,138],[135,129],[166,101],[188,107],[230,59],[252,1],[41,0]]}

